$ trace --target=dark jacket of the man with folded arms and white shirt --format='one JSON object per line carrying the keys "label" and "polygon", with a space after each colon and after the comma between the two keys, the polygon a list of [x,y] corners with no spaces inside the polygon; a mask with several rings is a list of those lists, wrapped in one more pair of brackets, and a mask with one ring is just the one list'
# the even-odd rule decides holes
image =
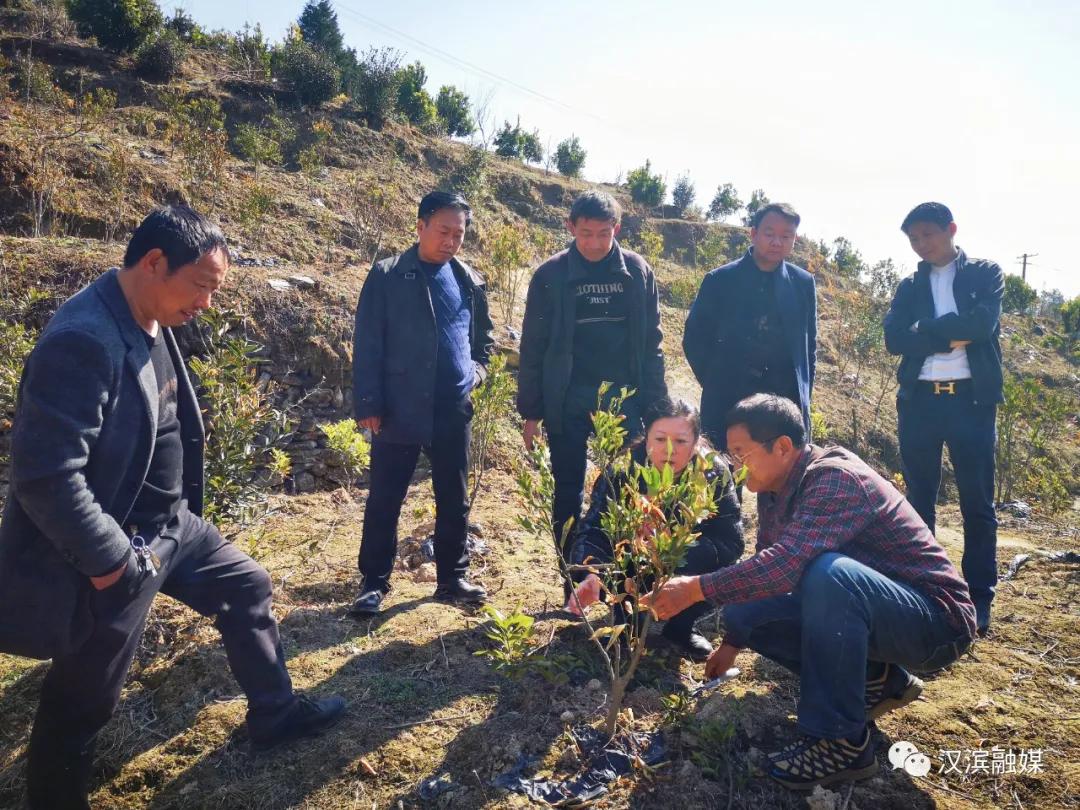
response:
{"label": "dark jacket of the man with folded arms and white shirt", "polygon": [[[910,399],[931,354],[947,352],[953,340],[970,340],[968,365],[974,400],[981,403],[1002,401],[1001,377],[1001,298],[1005,280],[1001,268],[986,259],[972,259],[960,251],[956,258],[953,297],[956,312],[934,316],[934,296],[930,289],[930,262],[920,261],[918,269],[896,287],[892,305],[885,316],[885,345],[890,354],[900,354],[896,379],[897,396]],[[915,332],[912,325],[918,323]]]}

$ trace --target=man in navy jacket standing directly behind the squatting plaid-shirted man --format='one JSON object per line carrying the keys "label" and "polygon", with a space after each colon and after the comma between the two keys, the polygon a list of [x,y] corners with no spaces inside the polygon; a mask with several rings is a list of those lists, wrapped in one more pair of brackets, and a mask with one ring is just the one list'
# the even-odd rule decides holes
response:
{"label": "man in navy jacket standing directly behind the squatting plaid-shirted man", "polygon": [[810,394],[818,359],[813,276],[787,261],[799,215],[770,203],[754,215],[751,248],[711,271],[690,307],[683,350],[701,383],[701,423],[727,447],[725,417],[751,394],[792,400],[810,431]]}

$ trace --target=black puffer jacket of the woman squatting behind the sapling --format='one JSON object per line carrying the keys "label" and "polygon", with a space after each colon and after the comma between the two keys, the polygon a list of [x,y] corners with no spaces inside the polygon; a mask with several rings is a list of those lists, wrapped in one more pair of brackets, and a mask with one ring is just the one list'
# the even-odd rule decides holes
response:
{"label": "black puffer jacket of the woman squatting behind the sapling", "polygon": [[[646,463],[645,445],[639,444],[632,450],[632,458],[638,464]],[[717,454],[702,453],[691,464],[706,464],[705,476],[710,482],[721,475],[726,475],[727,485],[720,490],[721,485],[717,485],[716,491],[716,513],[710,515],[699,523],[696,529],[700,532],[697,541],[687,551],[683,565],[678,568],[678,573],[697,576],[708,573],[718,568],[731,565],[742,556],[743,527],[742,517],[739,511],[739,498],[735,495],[734,484],[731,480],[730,468],[727,462]],[[582,518],[578,532],[570,551],[570,563],[572,565],[583,565],[586,559],[595,563],[607,563],[611,561],[611,540],[604,534],[600,527],[600,516],[607,510],[611,500],[612,485],[608,484],[610,475],[600,475],[593,487],[593,497],[589,504],[589,512]],[[612,482],[615,491],[623,486],[626,477],[623,474],[615,476]],[[645,491],[644,488],[642,491]]]}

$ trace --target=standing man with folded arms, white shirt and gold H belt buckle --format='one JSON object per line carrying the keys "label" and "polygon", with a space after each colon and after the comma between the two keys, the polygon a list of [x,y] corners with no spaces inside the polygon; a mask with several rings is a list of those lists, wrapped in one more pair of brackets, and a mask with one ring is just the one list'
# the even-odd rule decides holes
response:
{"label": "standing man with folded arms, white shirt and gold H belt buckle", "polygon": [[907,498],[933,531],[948,445],[963,515],[963,576],[985,635],[998,580],[994,453],[1004,275],[956,246],[953,213],[941,203],[916,206],[901,228],[922,259],[885,316],[886,347],[901,355],[896,417]]}

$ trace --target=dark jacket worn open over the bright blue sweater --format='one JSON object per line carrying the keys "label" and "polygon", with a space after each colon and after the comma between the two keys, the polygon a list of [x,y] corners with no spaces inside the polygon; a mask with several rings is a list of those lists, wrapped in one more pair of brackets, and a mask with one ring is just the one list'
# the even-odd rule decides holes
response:
{"label": "dark jacket worn open over the bright blue sweater", "polygon": [[[469,341],[476,382],[487,374],[495,338],[484,280],[457,259],[450,267],[471,306]],[[417,246],[372,268],[360,291],[352,337],[352,393],[356,419],[382,418],[379,440],[431,442],[434,430],[438,336],[431,291]]]}

